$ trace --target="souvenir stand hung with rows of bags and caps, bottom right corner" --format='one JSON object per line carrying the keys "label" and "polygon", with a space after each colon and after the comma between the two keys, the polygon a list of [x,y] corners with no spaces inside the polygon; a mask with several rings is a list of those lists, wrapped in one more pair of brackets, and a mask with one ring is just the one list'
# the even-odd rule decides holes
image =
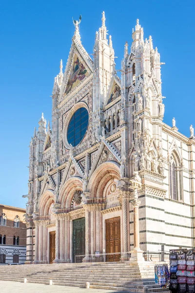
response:
{"label": "souvenir stand hung with rows of bags and caps, bottom right corner", "polygon": [[170,291],[195,293],[195,250],[171,250]]}

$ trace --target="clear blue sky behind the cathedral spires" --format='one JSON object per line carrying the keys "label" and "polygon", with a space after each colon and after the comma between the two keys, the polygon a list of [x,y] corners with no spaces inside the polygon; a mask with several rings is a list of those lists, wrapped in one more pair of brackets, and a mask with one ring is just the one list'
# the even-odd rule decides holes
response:
{"label": "clear blue sky behind the cathedral spires", "polygon": [[[72,16],[82,14],[80,35],[89,54],[105,11],[117,69],[124,44],[139,19],[161,55],[164,122],[176,118],[189,136],[195,126],[195,1],[6,0],[0,4],[0,203],[25,207],[29,142],[41,112],[51,120],[54,77],[65,66],[74,34]],[[63,68],[64,70],[64,68]]]}

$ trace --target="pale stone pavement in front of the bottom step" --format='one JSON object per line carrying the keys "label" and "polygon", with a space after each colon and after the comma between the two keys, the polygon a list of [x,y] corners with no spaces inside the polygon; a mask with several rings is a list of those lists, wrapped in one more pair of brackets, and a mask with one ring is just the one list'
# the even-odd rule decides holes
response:
{"label": "pale stone pavement in front of the bottom step", "polygon": [[124,293],[121,291],[84,289],[78,287],[0,281],[3,293]]}

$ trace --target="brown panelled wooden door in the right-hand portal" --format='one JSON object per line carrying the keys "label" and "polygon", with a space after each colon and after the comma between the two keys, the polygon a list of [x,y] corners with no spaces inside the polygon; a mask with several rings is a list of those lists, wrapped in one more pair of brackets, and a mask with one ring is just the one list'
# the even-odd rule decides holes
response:
{"label": "brown panelled wooden door in the right-hand portal", "polygon": [[[106,220],[106,253],[120,252],[120,217]],[[110,254],[107,261],[119,261],[120,253]]]}

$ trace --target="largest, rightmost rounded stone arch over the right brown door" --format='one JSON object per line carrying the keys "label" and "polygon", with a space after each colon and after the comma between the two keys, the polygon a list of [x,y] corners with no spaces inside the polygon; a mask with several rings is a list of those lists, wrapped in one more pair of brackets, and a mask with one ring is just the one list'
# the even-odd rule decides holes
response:
{"label": "largest, rightmost rounded stone arch over the right brown door", "polygon": [[103,197],[104,188],[112,179],[120,179],[119,165],[116,162],[101,164],[95,170],[88,183],[88,191],[91,193],[91,197]]}

